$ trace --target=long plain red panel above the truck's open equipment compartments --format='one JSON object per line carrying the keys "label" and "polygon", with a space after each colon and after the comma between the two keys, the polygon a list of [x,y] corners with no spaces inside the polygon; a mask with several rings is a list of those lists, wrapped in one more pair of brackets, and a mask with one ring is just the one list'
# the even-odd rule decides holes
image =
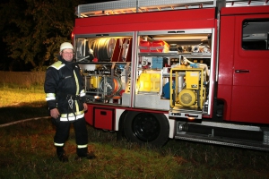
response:
{"label": "long plain red panel above the truck's open equipment compartments", "polygon": [[198,9],[81,18],[75,20],[74,34],[213,28],[214,16],[214,9]]}

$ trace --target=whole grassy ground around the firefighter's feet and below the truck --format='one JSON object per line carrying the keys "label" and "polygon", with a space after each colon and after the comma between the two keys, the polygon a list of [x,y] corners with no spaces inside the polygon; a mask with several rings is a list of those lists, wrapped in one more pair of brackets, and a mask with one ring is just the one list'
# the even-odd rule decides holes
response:
{"label": "whole grassy ground around the firefighter's feet and below the truck", "polygon": [[[9,118],[15,121],[46,116],[46,103],[38,97],[44,95],[42,90],[4,90],[13,91],[16,97],[21,92],[33,97],[27,102],[17,99],[20,105],[16,106],[12,105],[14,98],[11,105],[6,99],[6,105],[0,108],[4,115],[0,117],[1,124],[3,120],[9,122]],[[4,114],[6,111],[9,115]],[[117,141],[116,132],[87,127],[89,150],[97,158],[74,160],[71,128],[65,145],[68,163],[60,163],[56,158],[55,126],[48,118],[0,128],[0,178],[269,178],[269,153],[265,151],[176,140],[154,149]]]}

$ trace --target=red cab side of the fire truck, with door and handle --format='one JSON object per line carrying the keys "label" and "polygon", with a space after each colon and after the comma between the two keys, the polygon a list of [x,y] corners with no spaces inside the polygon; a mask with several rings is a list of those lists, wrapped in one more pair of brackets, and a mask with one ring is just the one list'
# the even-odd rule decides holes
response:
{"label": "red cab side of the fire truck, with door and handle", "polygon": [[[256,12],[256,14],[246,14],[248,9],[246,7],[234,8],[231,11],[232,9],[230,8],[229,13],[236,15],[228,15],[224,11],[225,16],[221,16],[218,98],[225,98],[226,120],[268,124],[269,120],[265,117],[269,106],[269,74],[266,68],[269,65],[268,44],[263,49],[245,47],[243,29],[245,24],[249,26],[249,23],[244,23],[247,20],[266,23],[269,20],[269,8],[249,7],[249,13]],[[239,14],[241,9],[244,11]],[[265,30],[265,36],[268,30]],[[255,35],[260,36],[262,32],[257,30]],[[264,41],[268,43],[266,38]],[[254,41],[248,40],[247,43]],[[224,86],[226,88],[223,88]]]}

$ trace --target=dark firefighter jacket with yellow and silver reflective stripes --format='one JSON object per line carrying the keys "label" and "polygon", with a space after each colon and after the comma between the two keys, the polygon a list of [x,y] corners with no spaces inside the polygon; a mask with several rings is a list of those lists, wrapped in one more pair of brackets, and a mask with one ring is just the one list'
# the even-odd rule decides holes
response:
{"label": "dark firefighter jacket with yellow and silver reflective stripes", "polygon": [[[48,108],[58,108],[62,117],[83,114],[85,91],[78,64],[66,62],[62,56],[48,67],[44,84]],[[72,115],[73,114],[73,115]],[[81,117],[76,117],[76,119]]]}

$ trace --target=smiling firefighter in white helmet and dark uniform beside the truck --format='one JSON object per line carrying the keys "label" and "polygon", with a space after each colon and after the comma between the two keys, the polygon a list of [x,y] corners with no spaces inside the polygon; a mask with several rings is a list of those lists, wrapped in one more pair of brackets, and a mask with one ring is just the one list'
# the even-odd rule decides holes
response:
{"label": "smiling firefighter in white helmet and dark uniform beside the truck", "polygon": [[58,61],[48,67],[44,90],[48,109],[53,124],[56,124],[54,145],[60,161],[67,162],[65,141],[69,135],[71,124],[74,125],[76,141],[76,158],[95,158],[88,152],[88,132],[84,119],[87,111],[83,79],[78,64],[74,60],[74,47],[69,42],[60,46]]}

